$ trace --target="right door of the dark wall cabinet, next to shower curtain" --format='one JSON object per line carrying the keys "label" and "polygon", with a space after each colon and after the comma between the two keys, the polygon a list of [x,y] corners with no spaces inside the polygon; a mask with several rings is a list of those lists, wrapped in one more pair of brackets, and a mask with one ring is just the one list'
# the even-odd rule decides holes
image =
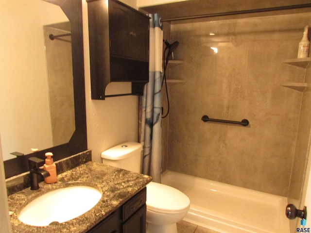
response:
{"label": "right door of the dark wall cabinet, next to shower curtain", "polygon": [[130,53],[133,59],[149,61],[149,20],[137,12],[130,13]]}

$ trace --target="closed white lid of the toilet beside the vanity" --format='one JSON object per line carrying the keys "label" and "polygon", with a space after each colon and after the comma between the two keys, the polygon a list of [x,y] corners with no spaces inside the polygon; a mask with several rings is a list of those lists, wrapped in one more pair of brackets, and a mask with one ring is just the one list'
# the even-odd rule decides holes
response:
{"label": "closed white lid of the toilet beside the vanity", "polygon": [[178,212],[189,208],[189,198],[179,190],[161,183],[147,184],[147,209],[160,212]]}

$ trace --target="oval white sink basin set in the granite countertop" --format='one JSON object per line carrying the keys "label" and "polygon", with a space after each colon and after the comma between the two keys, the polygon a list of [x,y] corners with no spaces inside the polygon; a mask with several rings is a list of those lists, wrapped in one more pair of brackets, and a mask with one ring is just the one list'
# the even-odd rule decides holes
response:
{"label": "oval white sink basin set in the granite countertop", "polygon": [[66,222],[86,213],[101,197],[100,190],[87,185],[56,189],[23,207],[18,219],[32,226]]}

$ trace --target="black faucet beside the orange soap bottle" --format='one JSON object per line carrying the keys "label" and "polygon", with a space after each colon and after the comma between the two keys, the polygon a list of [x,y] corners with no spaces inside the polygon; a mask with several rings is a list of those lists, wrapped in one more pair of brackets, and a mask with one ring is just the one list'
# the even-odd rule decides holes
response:
{"label": "black faucet beside the orange soap bottle", "polygon": [[43,165],[44,160],[37,157],[30,157],[29,162],[29,171],[30,171],[30,190],[39,189],[38,175],[41,175],[43,178],[50,176],[50,173],[42,168],[39,168],[39,164]]}

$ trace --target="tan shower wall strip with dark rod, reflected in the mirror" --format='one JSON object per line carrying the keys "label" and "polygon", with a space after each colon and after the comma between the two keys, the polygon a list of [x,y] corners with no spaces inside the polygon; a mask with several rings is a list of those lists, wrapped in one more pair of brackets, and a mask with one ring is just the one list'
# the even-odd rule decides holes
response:
{"label": "tan shower wall strip with dark rod, reflected in the mirror", "polygon": [[44,26],[44,41],[52,135],[50,147],[55,147],[68,143],[75,130],[70,22]]}

